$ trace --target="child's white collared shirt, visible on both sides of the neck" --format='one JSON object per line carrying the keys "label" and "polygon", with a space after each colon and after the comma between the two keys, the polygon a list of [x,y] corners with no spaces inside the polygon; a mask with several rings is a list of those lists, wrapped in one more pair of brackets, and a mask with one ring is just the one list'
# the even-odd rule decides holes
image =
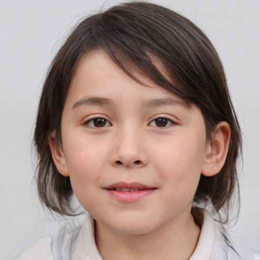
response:
{"label": "child's white collared shirt, visible on both sides of the neck", "polygon": [[[232,245],[235,245],[234,248]],[[88,215],[81,229],[62,230],[51,242],[50,237],[37,241],[17,260],[103,260],[95,245],[94,220]],[[207,211],[196,249],[189,260],[260,260],[237,239],[226,238],[221,225]]]}

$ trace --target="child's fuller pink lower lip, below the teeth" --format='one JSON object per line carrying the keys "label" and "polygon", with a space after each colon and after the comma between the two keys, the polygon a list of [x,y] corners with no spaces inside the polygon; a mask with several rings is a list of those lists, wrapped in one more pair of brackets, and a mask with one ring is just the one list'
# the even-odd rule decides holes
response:
{"label": "child's fuller pink lower lip, below the teeth", "polygon": [[118,191],[112,189],[105,190],[113,199],[125,203],[138,202],[155,191],[155,189],[142,189],[138,191]]}

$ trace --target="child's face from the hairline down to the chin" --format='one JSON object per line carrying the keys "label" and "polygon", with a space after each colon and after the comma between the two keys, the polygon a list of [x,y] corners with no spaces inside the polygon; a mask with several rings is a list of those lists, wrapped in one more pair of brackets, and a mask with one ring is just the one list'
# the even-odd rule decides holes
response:
{"label": "child's face from the hairline down to the chin", "polygon": [[[138,75],[137,75],[138,76]],[[56,166],[101,226],[144,234],[190,217],[206,156],[198,107],[88,54],[71,82]]]}

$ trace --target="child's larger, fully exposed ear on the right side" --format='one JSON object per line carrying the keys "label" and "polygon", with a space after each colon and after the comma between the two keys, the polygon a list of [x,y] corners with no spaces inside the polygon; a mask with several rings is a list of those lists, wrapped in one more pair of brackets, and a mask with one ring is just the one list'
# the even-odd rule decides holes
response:
{"label": "child's larger, fully exposed ear on the right side", "polygon": [[230,125],[227,122],[219,122],[212,134],[212,141],[206,148],[205,161],[202,167],[202,175],[213,176],[220,172],[224,166],[226,154],[230,144]]}

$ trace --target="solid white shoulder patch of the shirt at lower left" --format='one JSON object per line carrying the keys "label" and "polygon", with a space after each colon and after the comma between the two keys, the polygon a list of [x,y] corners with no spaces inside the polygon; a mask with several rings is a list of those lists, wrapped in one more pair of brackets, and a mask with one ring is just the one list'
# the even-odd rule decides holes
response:
{"label": "solid white shoulder patch of the shirt at lower left", "polygon": [[39,239],[34,245],[25,250],[16,260],[53,260],[51,238]]}

